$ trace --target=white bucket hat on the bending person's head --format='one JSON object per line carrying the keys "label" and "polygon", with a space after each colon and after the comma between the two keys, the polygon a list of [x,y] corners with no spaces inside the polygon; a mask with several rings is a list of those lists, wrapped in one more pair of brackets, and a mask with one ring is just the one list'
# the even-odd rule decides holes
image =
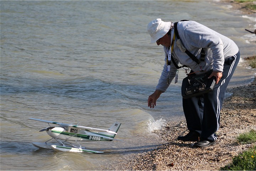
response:
{"label": "white bucket hat on the bending person's head", "polygon": [[171,28],[171,22],[164,22],[161,18],[151,21],[148,24],[148,32],[151,36],[151,43],[155,43],[163,37]]}

